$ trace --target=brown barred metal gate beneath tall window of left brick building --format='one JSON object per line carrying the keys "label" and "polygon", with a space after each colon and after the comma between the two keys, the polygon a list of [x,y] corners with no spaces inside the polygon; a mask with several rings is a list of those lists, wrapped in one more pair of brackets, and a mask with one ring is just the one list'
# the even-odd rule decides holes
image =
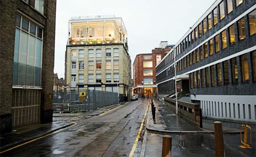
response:
{"label": "brown barred metal gate beneath tall window of left brick building", "polygon": [[13,89],[12,128],[40,122],[41,90]]}

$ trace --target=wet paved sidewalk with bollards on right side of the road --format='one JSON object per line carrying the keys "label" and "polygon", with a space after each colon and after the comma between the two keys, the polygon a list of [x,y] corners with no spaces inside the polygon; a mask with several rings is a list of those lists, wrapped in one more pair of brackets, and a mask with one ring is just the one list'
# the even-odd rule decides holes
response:
{"label": "wet paved sidewalk with bollards on right side of the road", "polygon": [[[203,119],[203,127],[196,127],[181,115],[176,115],[167,105],[155,101],[156,120],[153,120],[151,108],[148,112],[147,137],[145,156],[161,156],[163,135],[172,137],[172,156],[215,156],[214,134],[200,133],[201,131],[213,132],[213,122],[217,120]],[[239,133],[240,123],[222,122],[223,133]],[[235,127],[236,126],[236,127]],[[206,129],[206,130],[205,130]],[[255,133],[255,125],[252,128]],[[191,134],[182,134],[180,131],[191,131]],[[193,133],[199,132],[199,133]],[[223,134],[226,156],[255,156],[255,135],[253,135],[252,148],[239,148],[239,134]]]}

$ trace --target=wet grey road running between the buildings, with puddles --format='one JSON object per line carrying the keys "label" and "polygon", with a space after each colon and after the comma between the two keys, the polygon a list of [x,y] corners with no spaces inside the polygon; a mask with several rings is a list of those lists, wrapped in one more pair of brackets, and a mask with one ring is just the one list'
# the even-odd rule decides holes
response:
{"label": "wet grey road running between the buildings, with puddles", "polygon": [[[91,118],[54,118],[77,125],[1,156],[129,156],[147,104],[147,99],[138,100]],[[140,155],[144,129],[133,156]]]}

